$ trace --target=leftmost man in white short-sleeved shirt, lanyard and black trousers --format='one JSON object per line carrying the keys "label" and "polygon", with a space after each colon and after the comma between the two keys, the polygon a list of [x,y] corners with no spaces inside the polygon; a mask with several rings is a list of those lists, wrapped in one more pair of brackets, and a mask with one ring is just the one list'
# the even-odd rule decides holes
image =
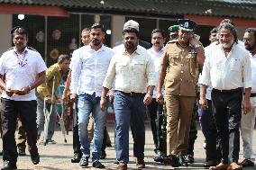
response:
{"label": "leftmost man in white short-sleeved shirt, lanyard and black trousers", "polygon": [[27,134],[29,151],[34,165],[40,162],[36,125],[35,88],[45,79],[46,66],[41,55],[27,47],[28,32],[22,27],[11,31],[15,47],[0,58],[0,86],[2,94],[2,129],[4,166],[2,170],[16,169],[17,148],[14,139],[19,118]]}

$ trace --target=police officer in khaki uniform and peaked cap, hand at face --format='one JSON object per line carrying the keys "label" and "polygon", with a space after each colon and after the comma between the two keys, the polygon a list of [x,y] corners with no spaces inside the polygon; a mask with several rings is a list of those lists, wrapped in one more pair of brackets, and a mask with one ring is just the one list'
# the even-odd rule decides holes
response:
{"label": "police officer in khaki uniform and peaked cap, hand at face", "polygon": [[167,109],[167,155],[171,166],[187,166],[187,142],[193,107],[198,65],[205,61],[204,49],[195,39],[196,22],[178,20],[178,40],[167,44],[161,62],[157,101],[163,102],[161,87],[165,79]]}

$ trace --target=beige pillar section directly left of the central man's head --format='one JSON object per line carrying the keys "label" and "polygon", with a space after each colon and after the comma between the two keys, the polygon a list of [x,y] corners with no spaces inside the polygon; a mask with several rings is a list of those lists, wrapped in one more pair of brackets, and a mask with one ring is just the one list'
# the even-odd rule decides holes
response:
{"label": "beige pillar section directly left of the central man's head", "polygon": [[111,47],[114,47],[114,43],[123,40],[123,24],[125,17],[121,15],[112,16],[111,24]]}

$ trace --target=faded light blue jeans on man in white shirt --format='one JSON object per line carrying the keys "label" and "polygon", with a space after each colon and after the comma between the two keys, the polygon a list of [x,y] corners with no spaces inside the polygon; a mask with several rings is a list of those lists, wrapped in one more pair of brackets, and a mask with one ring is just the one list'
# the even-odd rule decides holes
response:
{"label": "faded light blue jeans on man in white shirt", "polygon": [[96,97],[96,94],[80,94],[78,96],[78,134],[81,143],[81,151],[85,157],[90,156],[87,126],[91,112],[94,117],[92,162],[99,160],[104,137],[105,112],[101,111],[99,102],[100,97]]}

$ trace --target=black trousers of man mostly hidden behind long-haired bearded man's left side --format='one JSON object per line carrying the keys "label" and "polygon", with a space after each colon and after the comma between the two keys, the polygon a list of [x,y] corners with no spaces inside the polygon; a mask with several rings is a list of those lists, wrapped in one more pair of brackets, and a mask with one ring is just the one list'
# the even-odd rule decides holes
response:
{"label": "black trousers of man mostly hidden behind long-haired bearded man's left side", "polygon": [[206,138],[206,161],[220,161],[221,152],[217,146],[217,130],[213,114],[212,101],[207,100],[208,108],[202,111],[200,123]]}

